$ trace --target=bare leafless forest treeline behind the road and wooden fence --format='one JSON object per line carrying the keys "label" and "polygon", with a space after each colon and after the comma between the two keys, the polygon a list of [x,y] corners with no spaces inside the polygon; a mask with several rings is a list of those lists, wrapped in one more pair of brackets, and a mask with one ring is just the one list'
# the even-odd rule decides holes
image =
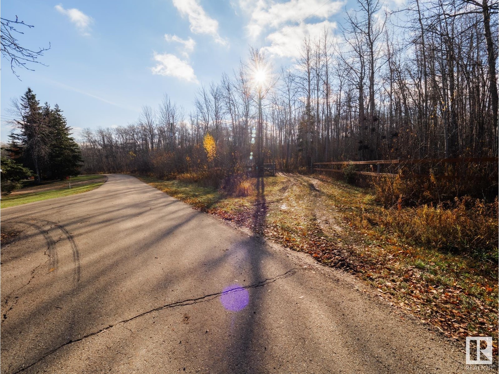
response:
{"label": "bare leafless forest treeline behind the road and wooden fence", "polygon": [[[189,113],[170,93],[132,124],[85,130],[84,170],[165,178],[232,171],[258,155],[281,170],[496,157],[497,14],[491,0],[410,0],[392,13],[379,0],[359,0],[335,35],[304,39],[287,68],[272,68],[264,49],[251,49],[248,62],[199,88]],[[255,74],[265,81],[255,83]]]}

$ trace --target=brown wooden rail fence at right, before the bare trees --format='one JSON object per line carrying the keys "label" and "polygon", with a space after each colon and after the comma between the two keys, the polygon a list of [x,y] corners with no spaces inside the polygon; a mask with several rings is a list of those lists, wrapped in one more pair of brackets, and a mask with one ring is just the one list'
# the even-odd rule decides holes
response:
{"label": "brown wooden rail fence at right, before the bare trees", "polygon": [[[497,157],[468,157],[468,158],[459,158],[459,159],[414,159],[414,160],[372,160],[372,161],[336,161],[336,162],[328,162],[328,163],[314,163],[313,165],[376,165],[377,172],[357,172],[353,171],[352,173],[364,175],[364,176],[373,176],[373,177],[396,177],[398,174],[394,173],[381,173],[381,165],[397,165],[398,168],[400,166],[405,165],[417,165],[417,164],[459,164],[459,163],[490,163],[490,162],[498,162]],[[371,167],[372,168],[372,167]],[[328,169],[328,168],[316,168],[313,170],[321,171],[321,172],[334,172],[341,173],[341,169]],[[429,176],[425,175],[414,175],[418,178],[428,178]],[[438,176],[437,178],[442,179],[455,179],[458,176]]]}

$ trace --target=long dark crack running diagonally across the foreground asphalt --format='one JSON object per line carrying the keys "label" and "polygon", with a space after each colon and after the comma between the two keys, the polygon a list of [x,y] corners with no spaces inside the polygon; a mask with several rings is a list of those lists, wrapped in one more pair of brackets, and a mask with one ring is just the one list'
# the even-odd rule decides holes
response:
{"label": "long dark crack running diagonally across the foreground asphalt", "polygon": [[[284,279],[284,278],[290,277],[290,276],[296,274],[296,272],[299,271],[299,270],[303,270],[303,269],[302,268],[292,268],[292,269],[286,271],[283,274],[276,275],[275,277],[272,277],[272,278],[265,278],[264,280],[259,281],[259,282],[254,283],[254,284],[250,284],[249,286],[241,286],[241,287],[234,288],[234,289],[231,289],[231,290],[226,291],[226,292],[216,292],[216,293],[209,294],[209,295],[204,295],[204,296],[201,296],[201,297],[198,297],[198,298],[195,298],[195,299],[187,299],[187,300],[177,301],[175,303],[165,304],[165,305],[162,305],[162,306],[160,306],[158,308],[154,308],[154,309],[148,310],[147,312],[138,314],[138,315],[136,315],[136,316],[134,316],[132,318],[128,318],[126,320],[116,322],[113,325],[109,325],[107,327],[104,327],[104,328],[100,329],[99,331],[95,331],[93,333],[84,335],[83,337],[81,337],[79,339],[69,340],[66,343],[61,344],[60,346],[58,346],[58,347],[54,348],[53,350],[47,352],[46,354],[44,354],[42,357],[40,357],[38,360],[36,360],[32,364],[30,364],[30,365],[28,365],[28,366],[26,366],[26,367],[24,367],[22,369],[19,369],[18,371],[14,372],[12,374],[22,373],[26,369],[29,369],[33,365],[38,364],[40,361],[42,361],[46,357],[52,355],[54,352],[58,351],[59,349],[65,347],[67,345],[81,342],[82,340],[84,340],[86,338],[89,338],[89,337],[94,336],[94,335],[98,335],[98,334],[100,334],[100,333],[102,333],[102,332],[104,332],[104,331],[106,331],[108,329],[111,329],[111,328],[113,328],[113,327],[115,327],[117,325],[125,324],[125,323],[133,321],[133,320],[135,320],[137,318],[140,318],[140,317],[143,317],[145,315],[148,315],[150,313],[157,312],[157,311],[160,311],[160,310],[163,310],[163,309],[167,309],[167,308],[182,307],[182,306],[193,305],[193,304],[197,304],[197,303],[203,303],[203,302],[206,302],[206,301],[211,301],[213,299],[216,299],[217,297],[222,296],[222,294],[231,293],[231,292],[237,292],[237,291],[241,290],[242,288],[243,289],[250,289],[250,288],[256,288],[256,287],[263,287],[263,286],[268,285],[270,283],[273,283],[273,282],[275,282],[275,281],[277,281],[279,279]],[[130,329],[127,329],[127,330],[130,330]]]}

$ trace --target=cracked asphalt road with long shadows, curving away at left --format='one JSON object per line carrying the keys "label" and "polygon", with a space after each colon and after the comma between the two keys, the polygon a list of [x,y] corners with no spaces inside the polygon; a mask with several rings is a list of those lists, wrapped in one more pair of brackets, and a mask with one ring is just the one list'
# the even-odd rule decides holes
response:
{"label": "cracked asphalt road with long shadows, curving away at left", "polygon": [[108,177],[1,210],[1,373],[464,371],[352,276]]}

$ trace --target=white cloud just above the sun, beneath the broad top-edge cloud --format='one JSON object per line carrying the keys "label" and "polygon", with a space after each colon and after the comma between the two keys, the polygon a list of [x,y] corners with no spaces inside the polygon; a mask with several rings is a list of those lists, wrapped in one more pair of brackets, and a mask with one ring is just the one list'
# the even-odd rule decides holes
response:
{"label": "white cloud just above the sun, beneath the broad top-edge cloud", "polygon": [[299,57],[300,46],[305,37],[311,40],[324,35],[324,29],[332,34],[337,27],[336,22],[323,21],[318,23],[301,23],[298,26],[284,26],[279,31],[272,32],[265,39],[270,41],[270,46],[262,49],[271,55],[280,57]]}

